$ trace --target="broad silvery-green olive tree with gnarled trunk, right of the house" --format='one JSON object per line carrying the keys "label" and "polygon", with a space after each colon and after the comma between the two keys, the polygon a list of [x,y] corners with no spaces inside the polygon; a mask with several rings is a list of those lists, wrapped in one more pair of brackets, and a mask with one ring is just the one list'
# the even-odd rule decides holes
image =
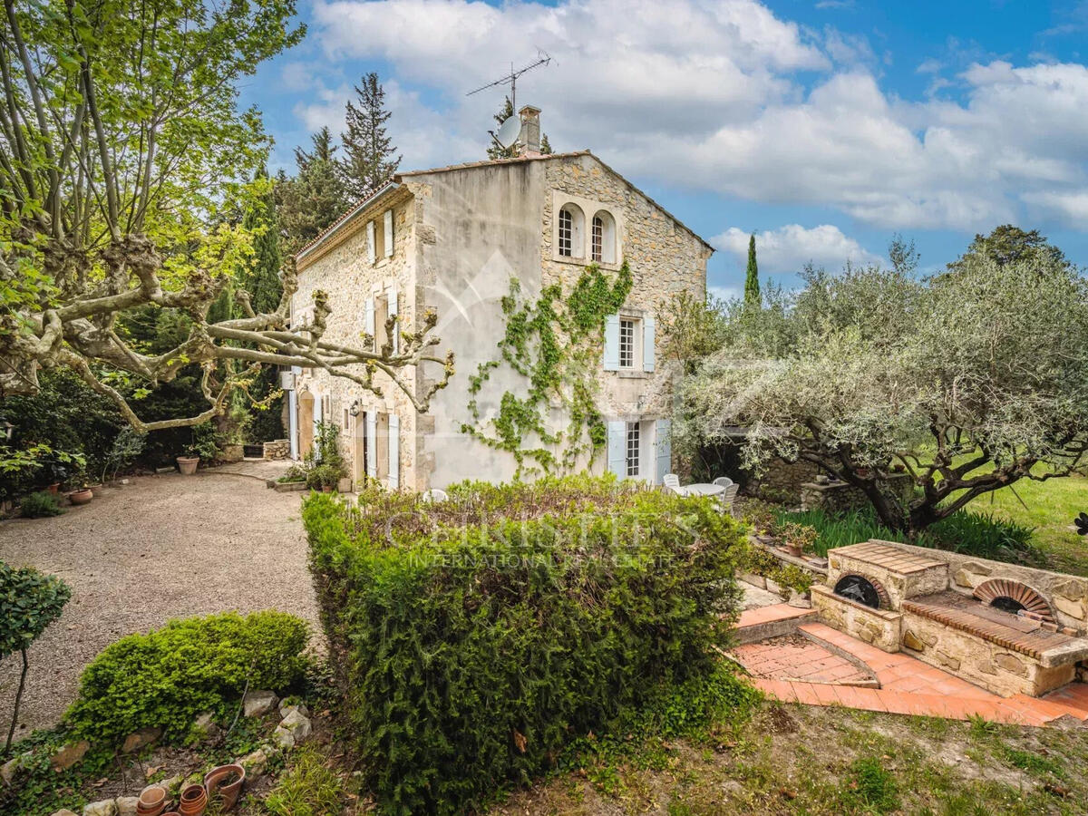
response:
{"label": "broad silvery-green olive tree with gnarled trunk, right of the house", "polygon": [[[990,491],[1085,465],[1088,282],[1066,264],[972,256],[927,281],[811,273],[784,322],[789,346],[733,326],[687,379],[681,441],[746,426],[750,467],[814,462],[911,536]],[[906,502],[893,468],[916,489]]]}

